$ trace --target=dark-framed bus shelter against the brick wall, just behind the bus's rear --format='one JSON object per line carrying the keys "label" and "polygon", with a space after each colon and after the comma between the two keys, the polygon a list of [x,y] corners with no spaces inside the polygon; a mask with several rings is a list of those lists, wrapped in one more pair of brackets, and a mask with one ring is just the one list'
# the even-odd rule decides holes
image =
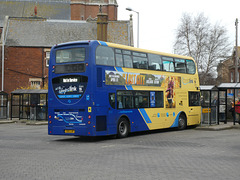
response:
{"label": "dark-framed bus shelter against the brick wall, just behind the bus's rear", "polygon": [[11,92],[11,119],[47,120],[48,90],[17,89]]}

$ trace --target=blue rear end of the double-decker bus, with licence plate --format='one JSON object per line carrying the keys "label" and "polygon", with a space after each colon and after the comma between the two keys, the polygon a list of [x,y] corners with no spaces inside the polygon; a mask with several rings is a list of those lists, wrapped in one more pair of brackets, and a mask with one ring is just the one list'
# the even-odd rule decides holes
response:
{"label": "blue rear end of the double-decker bus, with licence plate", "polygon": [[48,134],[96,135],[91,118],[91,41],[52,47],[48,84]]}

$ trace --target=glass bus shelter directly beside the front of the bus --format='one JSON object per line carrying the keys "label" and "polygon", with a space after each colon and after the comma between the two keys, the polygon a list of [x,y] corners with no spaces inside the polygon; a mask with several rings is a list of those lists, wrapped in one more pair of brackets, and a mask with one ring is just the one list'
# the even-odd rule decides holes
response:
{"label": "glass bus shelter directly beside the front of the bus", "polygon": [[[200,86],[201,90],[201,124],[219,124],[219,119],[224,120],[224,117],[220,116],[219,112],[219,93],[218,88],[214,85]],[[224,111],[221,109],[221,112]]]}

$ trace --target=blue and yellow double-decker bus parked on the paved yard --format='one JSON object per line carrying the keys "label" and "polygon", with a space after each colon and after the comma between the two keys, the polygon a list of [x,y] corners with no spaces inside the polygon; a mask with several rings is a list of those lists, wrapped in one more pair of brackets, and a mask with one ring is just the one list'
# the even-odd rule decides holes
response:
{"label": "blue and yellow double-decker bus parked on the paved yard", "polygon": [[191,57],[103,41],[53,46],[48,134],[114,135],[200,123],[200,88]]}

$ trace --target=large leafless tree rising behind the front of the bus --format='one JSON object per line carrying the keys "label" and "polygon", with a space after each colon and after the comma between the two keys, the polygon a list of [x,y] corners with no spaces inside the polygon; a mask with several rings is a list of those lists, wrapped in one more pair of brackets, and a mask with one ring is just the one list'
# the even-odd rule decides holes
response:
{"label": "large leafless tree rising behind the front of the bus", "polygon": [[216,75],[219,61],[230,53],[227,30],[220,24],[212,25],[203,13],[196,17],[184,13],[176,31],[174,51],[196,60],[200,83],[206,84]]}

